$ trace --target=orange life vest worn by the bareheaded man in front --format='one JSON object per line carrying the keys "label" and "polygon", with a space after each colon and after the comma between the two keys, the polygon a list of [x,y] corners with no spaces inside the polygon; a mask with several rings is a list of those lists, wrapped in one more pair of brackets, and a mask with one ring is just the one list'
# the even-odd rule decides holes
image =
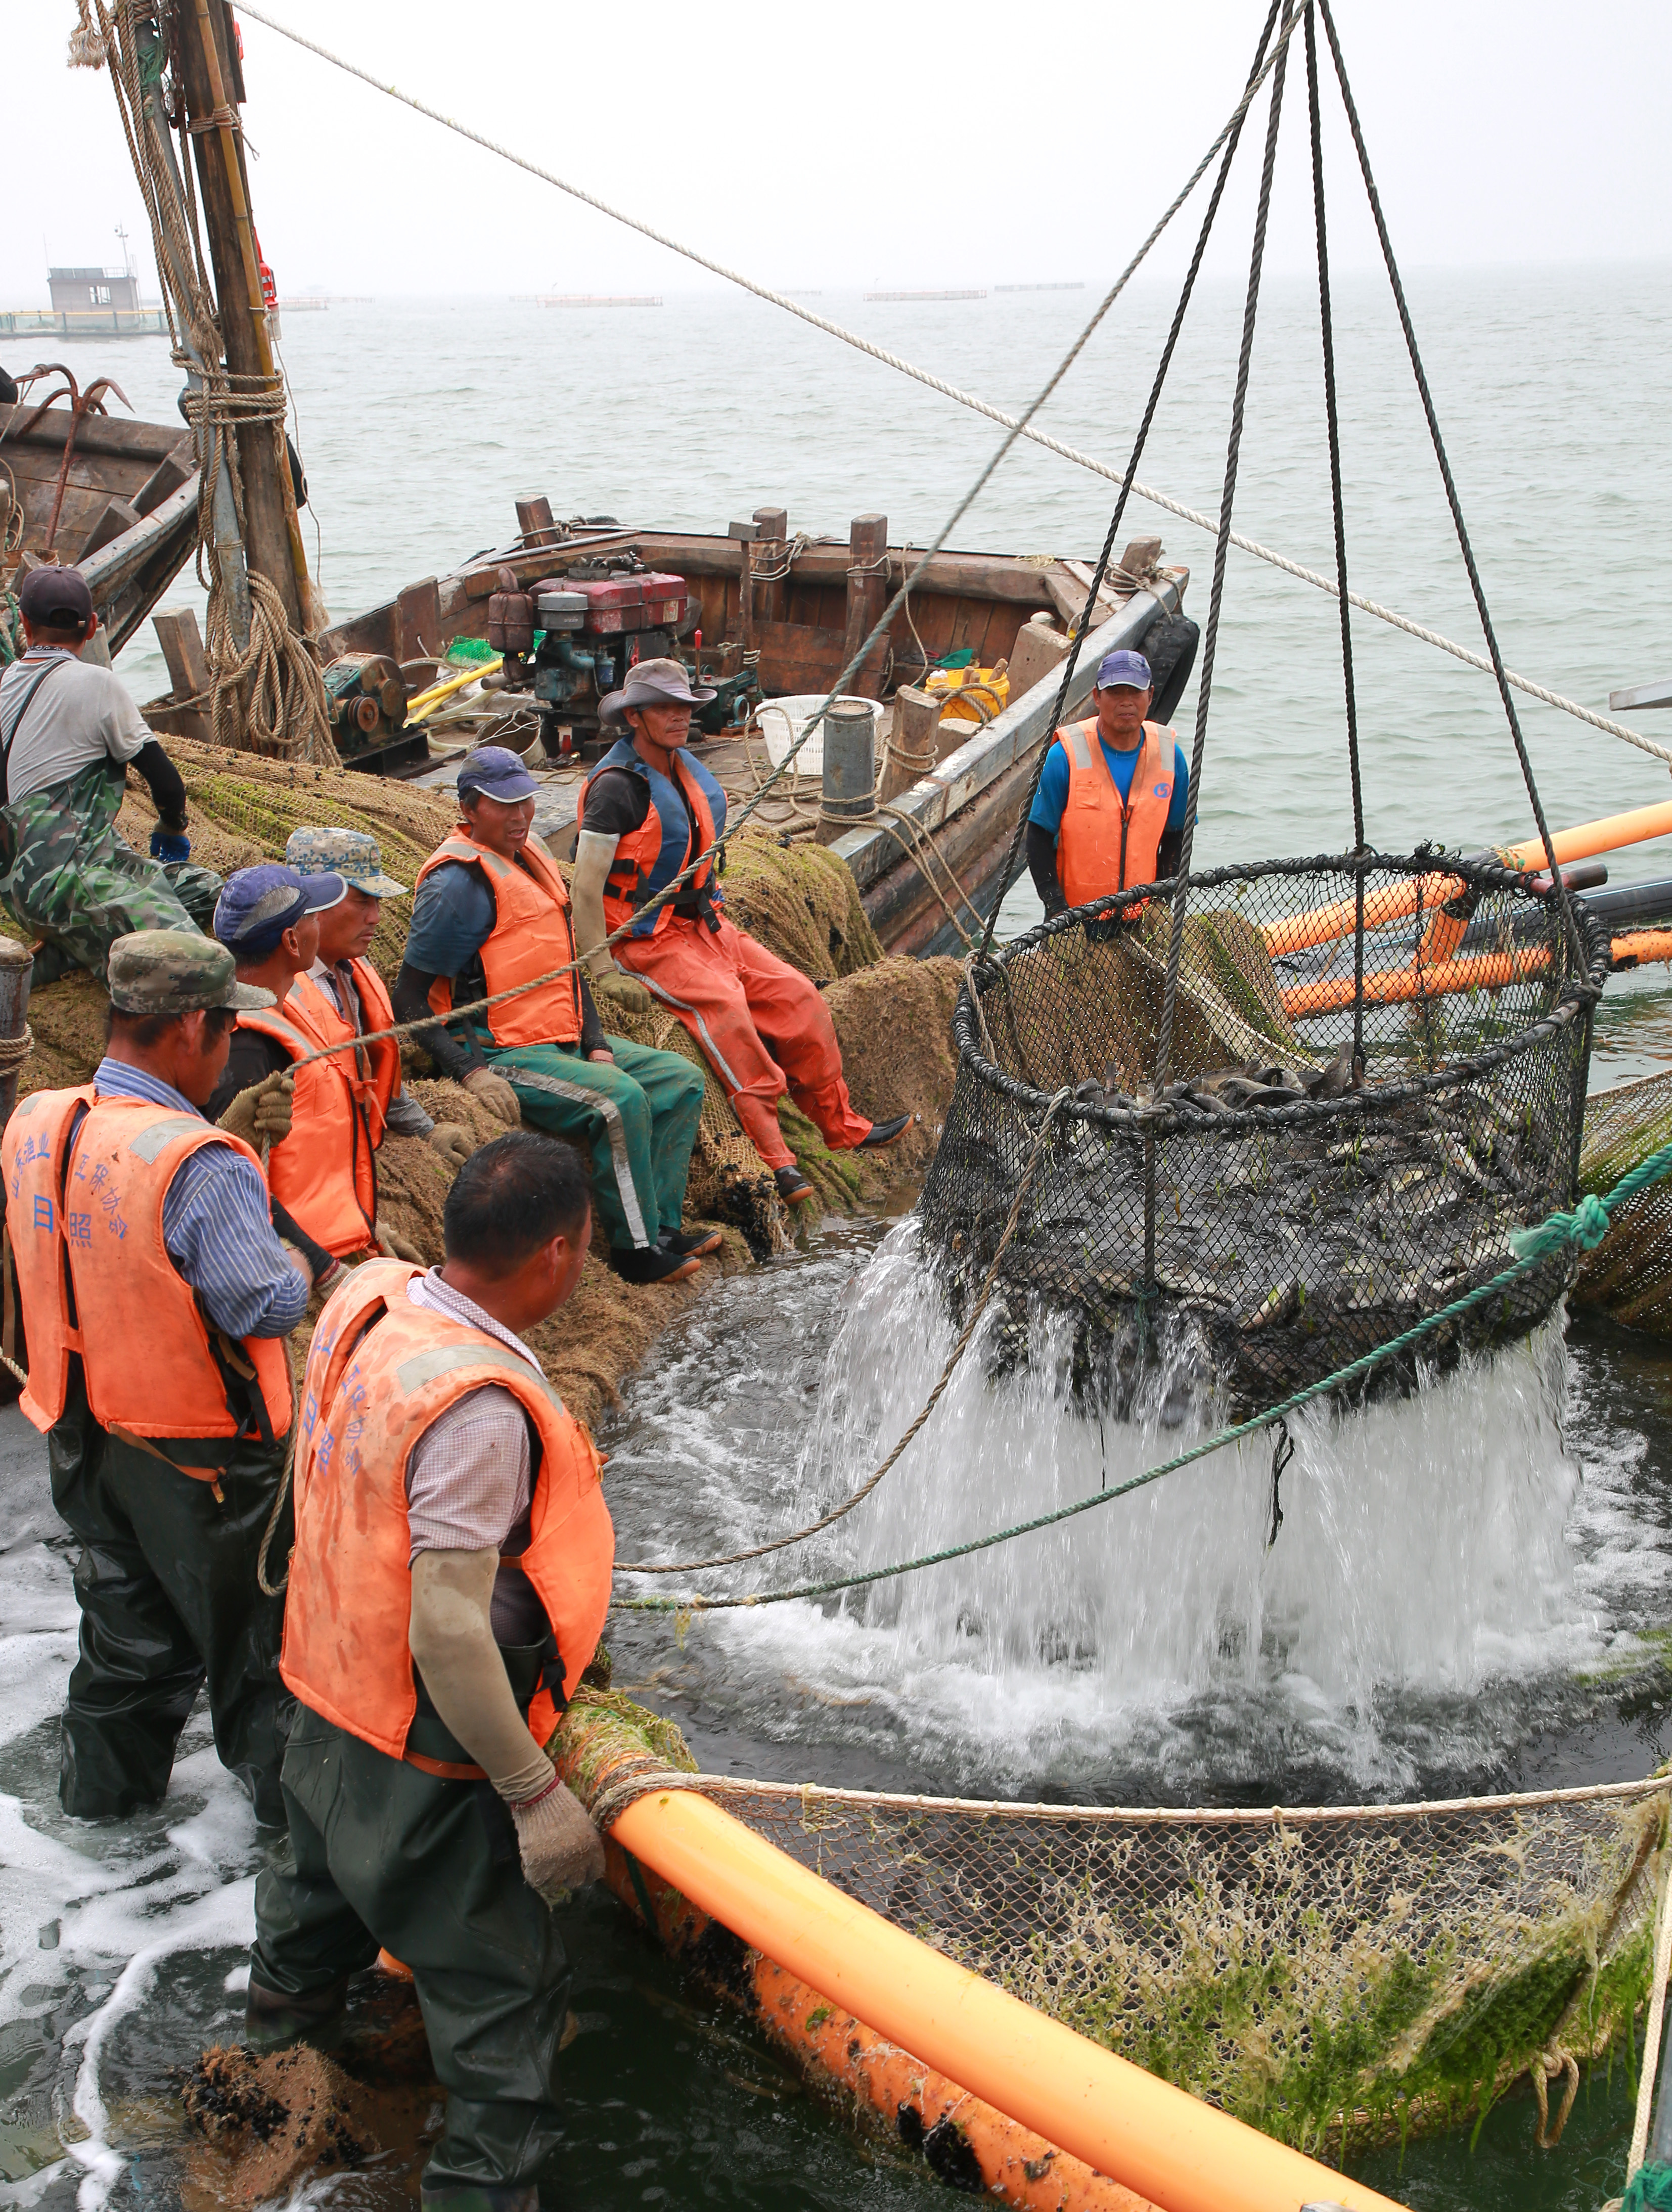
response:
{"label": "orange life vest worn by the bareheaded man in front", "polygon": [[511,1564],[526,1573],[557,1639],[562,1686],[555,1694],[542,1686],[529,1710],[544,1745],[610,1606],[604,1462],[557,1391],[509,1345],[414,1305],[416,1274],[422,1267],[405,1261],[367,1261],[318,1316],[303,1380],[279,1672],[327,1721],[391,1759],[405,1754],[418,1710],[407,1460],[440,1413],[498,1383],[533,1418],[542,1447],[529,1548]]}

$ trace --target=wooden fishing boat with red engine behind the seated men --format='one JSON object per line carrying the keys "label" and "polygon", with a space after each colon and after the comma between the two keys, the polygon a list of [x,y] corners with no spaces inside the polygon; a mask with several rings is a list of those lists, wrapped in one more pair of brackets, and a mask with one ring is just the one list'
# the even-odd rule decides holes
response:
{"label": "wooden fishing boat with red engine behind the seated men", "polygon": [[[847,540],[792,535],[783,509],[759,509],[723,535],[613,518],[564,524],[544,498],[520,500],[518,520],[506,546],[336,624],[321,646],[347,765],[440,783],[462,745],[511,743],[540,779],[535,825],[560,858],[573,856],[586,765],[610,741],[597,723],[599,672],[608,690],[635,659],[681,655],[719,692],[697,734],[701,757],[732,805],[745,803],[790,739],[790,714],[772,701],[823,699],[916,566],[909,546],[887,542],[882,515],[860,515]],[[1157,712],[1170,714],[1194,659],[1196,630],[1181,619],[1188,580],[1188,568],[1161,566],[1159,540],[1126,549],[1093,608],[1070,712],[1086,710],[1104,653],[1139,646],[1157,668]],[[537,633],[540,586],[566,584],[577,586],[577,628],[564,668],[542,648],[478,679],[460,659],[500,644],[511,597]],[[818,774],[774,787],[761,818],[834,845],[889,951],[955,951],[960,929],[980,927],[997,896],[1090,584],[1090,566],[1075,560],[936,553],[849,686],[878,703],[874,790],[849,801],[854,825],[821,823]],[[588,588],[610,604],[579,613]],[[615,604],[637,591],[641,604]],[[157,730],[206,734],[201,717],[173,703],[201,692],[199,659],[179,653],[164,624],[159,635],[175,692],[146,717]],[[924,688],[949,659],[966,668],[942,675],[947,688]],[[458,690],[431,708],[425,695],[449,679]]]}

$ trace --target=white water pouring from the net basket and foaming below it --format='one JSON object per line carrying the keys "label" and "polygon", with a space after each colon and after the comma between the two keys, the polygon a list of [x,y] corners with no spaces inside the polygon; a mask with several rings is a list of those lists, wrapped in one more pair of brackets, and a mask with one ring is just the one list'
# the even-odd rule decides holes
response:
{"label": "white water pouring from the net basket and foaming below it", "polygon": [[[776,1296],[763,1281],[770,1318],[745,1294],[732,1327],[710,1323],[630,1387],[613,1440],[630,1555],[798,1526],[905,1431],[953,1325],[916,1223],[858,1274],[854,1256],[849,1243],[778,1274]],[[1212,1405],[1170,1405],[1166,1376],[1135,1422],[1077,1411],[1066,1332],[1048,1316],[1020,1371],[989,1376],[982,1352],[984,1332],[849,1520],[701,1582],[783,1588],[931,1553],[1115,1486],[1219,1425]],[[741,1411],[761,1387],[778,1411],[807,1402],[798,1440],[783,1418]],[[1535,1725],[1537,1701],[1517,1717],[1515,1686],[1572,1679],[1621,1637],[1630,1648],[1632,1593],[1665,1590],[1663,1537],[1630,1498],[1641,1438],[1586,1418],[1581,1482],[1572,1407],[1550,1323],[1413,1398],[1298,1416],[1274,1544],[1267,1433],[840,1601],[703,1619],[677,1674],[732,1728],[865,1747],[958,1787],[1415,1790],[1502,1759]],[[633,1480],[650,1460],[655,1491]]]}

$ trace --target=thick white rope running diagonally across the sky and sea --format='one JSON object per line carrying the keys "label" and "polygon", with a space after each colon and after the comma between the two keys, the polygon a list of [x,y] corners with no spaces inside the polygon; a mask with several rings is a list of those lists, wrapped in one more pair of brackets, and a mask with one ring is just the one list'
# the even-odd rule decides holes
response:
{"label": "thick white rope running diagonally across the sky and sea", "polygon": [[[770,285],[756,283],[741,270],[728,268],[723,261],[714,261],[710,254],[697,252],[694,246],[681,246],[681,241],[670,239],[666,230],[657,230],[652,223],[639,221],[637,215],[626,215],[621,208],[610,206],[608,199],[599,199],[595,192],[586,192],[582,186],[571,184],[566,177],[553,175],[553,170],[542,168],[537,161],[529,161],[524,155],[513,153],[498,139],[487,137],[487,133],[473,131],[469,124],[456,122],[451,115],[445,115],[440,108],[431,108],[427,102],[414,97],[411,93],[403,93],[398,84],[389,84],[385,77],[374,75],[369,69],[360,69],[356,62],[345,60],[341,53],[332,53],[330,46],[321,46],[312,38],[303,38],[301,31],[292,31],[288,24],[279,22],[274,15],[263,13],[263,9],[259,7],[250,7],[248,0],[239,0],[239,13],[250,15],[254,22],[265,24],[270,31],[276,31],[281,38],[288,38],[294,46],[305,46],[307,53],[316,53],[321,62],[330,62],[332,69],[341,69],[345,71],[345,75],[358,77],[374,91],[385,93],[389,100],[398,100],[403,106],[414,108],[414,113],[427,115],[429,122],[440,124],[445,131],[453,131],[458,137],[469,139],[473,146],[482,146],[487,153],[498,155],[502,161],[511,161],[513,168],[526,170],[526,175],[531,177],[540,177],[542,184],[551,184],[560,192],[568,192],[571,199],[579,199],[588,208],[597,208],[597,212],[608,215],[613,223],[624,223],[628,230],[637,230],[639,237],[650,239],[655,246],[666,246],[668,252],[681,254],[686,261],[694,261],[697,268],[706,268],[710,274],[723,276],[725,283],[734,283],[743,292],[752,292],[756,299],[763,299],[770,307],[781,307],[785,314],[794,314],[798,321],[812,323],[814,330],[823,330],[827,336],[840,338],[843,345],[851,345],[856,352],[869,354],[871,361],[880,361],[885,367],[898,369],[902,376],[911,376],[916,383],[927,385],[929,392],[938,392],[942,398],[955,400],[960,407],[969,407],[975,414],[986,416],[989,422],[997,422],[1002,429],[1020,429],[1022,436],[1028,438],[1033,445],[1044,447],[1048,453],[1057,453],[1062,460],[1070,460],[1077,469],[1090,469],[1093,476],[1108,478],[1110,484],[1119,484],[1126,480],[1124,469],[1112,467],[1110,462],[1104,460],[1093,460],[1093,456],[1081,453],[1079,447],[1066,445],[1062,438],[1051,438],[1042,429],[1033,429],[1033,425],[1024,422],[1022,418],[1006,414],[1002,407],[993,407],[991,400],[978,398],[973,392],[964,392],[960,385],[947,383],[947,378],[933,376],[929,369],[920,369],[913,361],[905,361],[900,354],[891,354],[882,345],[874,345],[869,338],[863,338],[856,330],[847,330],[843,323],[832,323],[827,316],[814,314],[812,307],[803,305],[796,299],[790,299],[787,292],[774,292]],[[1296,15],[1296,22],[1300,18]],[[1289,24],[1289,31],[1292,29],[1294,24]],[[1265,69],[1261,71],[1261,80],[1276,62],[1276,55],[1285,51],[1283,40],[1289,35],[1289,31],[1285,31],[1278,38],[1274,51],[1267,55]],[[1261,80],[1256,80],[1256,84]],[[1225,128],[1230,131],[1230,124]],[[1223,144],[1223,133],[1221,139],[1214,144],[1214,148],[1210,148],[1210,155],[1216,150],[1219,144]],[[1208,531],[1210,535],[1219,533],[1216,515],[1205,515],[1196,507],[1185,507],[1181,500],[1168,498],[1166,491],[1157,491],[1150,484],[1139,484],[1137,478],[1132,480],[1132,491],[1141,500],[1148,500],[1150,507],[1159,507],[1163,509],[1163,513],[1177,515],[1181,522],[1192,522],[1199,531]],[[1239,553],[1252,553],[1254,560],[1269,562],[1272,568],[1281,568],[1285,575],[1294,575],[1303,584],[1314,584],[1318,591],[1327,591],[1331,599],[1338,597],[1334,577],[1323,575],[1318,568],[1305,568],[1300,562],[1289,560],[1285,553],[1278,553],[1272,546],[1261,544],[1258,538],[1245,538],[1241,531],[1232,531],[1230,542],[1239,549]],[[1391,624],[1396,630],[1404,630],[1407,637],[1415,637],[1424,646],[1438,646],[1442,653],[1451,653],[1451,657],[1462,661],[1466,668],[1480,668],[1482,675],[1493,675],[1493,664],[1482,653],[1471,653],[1469,646],[1460,646],[1455,637],[1446,637],[1442,630],[1431,630],[1424,624],[1413,622],[1409,615],[1400,615],[1398,608],[1382,606],[1380,599],[1367,599],[1360,593],[1349,591],[1347,604],[1356,606],[1362,615],[1373,615],[1378,622]],[[1608,714],[1597,714],[1592,708],[1581,706],[1577,699],[1566,699],[1561,692],[1548,690],[1544,684],[1535,684],[1530,677],[1522,677],[1513,668],[1506,668],[1504,675],[1519,692],[1526,692],[1528,699],[1539,699],[1544,706],[1561,708],[1564,714],[1572,714],[1577,721],[1586,721],[1590,723],[1592,730],[1603,730],[1608,737],[1619,737],[1628,745],[1637,745],[1639,752],[1648,752],[1652,759],[1665,761],[1672,768],[1672,748],[1657,745],[1654,739],[1643,737],[1641,730],[1630,730],[1623,721],[1612,721]]]}

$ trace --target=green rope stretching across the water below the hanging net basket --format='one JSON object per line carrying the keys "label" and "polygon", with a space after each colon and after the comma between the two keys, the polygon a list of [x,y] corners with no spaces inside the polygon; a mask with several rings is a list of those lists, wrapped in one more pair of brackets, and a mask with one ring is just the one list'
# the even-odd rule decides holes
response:
{"label": "green rope stretching across the water below the hanging net basket", "polygon": [[[748,1597],[701,1597],[697,1593],[686,1597],[617,1597],[613,1599],[613,1610],[719,1613],[734,1606],[785,1606],[790,1599],[798,1597],[834,1597],[838,1590],[860,1590],[871,1582],[889,1582],[894,1575],[916,1575],[924,1566],[944,1566],[949,1559],[966,1559],[973,1551],[991,1551],[995,1544],[1009,1544],[1017,1535],[1033,1535],[1035,1528],[1055,1528],[1057,1522],[1073,1520],[1077,1513],[1090,1513],[1093,1506],[1112,1504],[1115,1498],[1126,1498],[1132,1491],[1146,1489],[1150,1482],[1159,1482],[1161,1475],[1174,1475],[1181,1467],[1192,1467],[1196,1460],[1205,1460],[1210,1453],[1223,1451],[1225,1444],[1236,1444],[1245,1436],[1258,1436],[1261,1429],[1274,1427],[1278,1420],[1285,1420],[1314,1398],[1323,1398],[1327,1391],[1338,1389],[1342,1383],[1356,1383],[1384,1360],[1420,1345],[1449,1321],[1457,1321],[1477,1305],[1486,1305],[1488,1298],[1499,1296],[1511,1287],[1511,1283],[1530,1274],[1533,1267],[1537,1267],[1553,1252],[1561,1252],[1566,1245],[1592,1252],[1608,1234],[1608,1223],[1614,1210],[1626,1206],[1628,1199],[1634,1199],[1641,1190],[1648,1190],[1650,1183],[1659,1183],[1668,1172],[1672,1172],[1672,1144],[1663,1144],[1659,1152],[1650,1152],[1650,1157],[1641,1166],[1632,1168],[1630,1175],[1623,1175],[1606,1197],[1584,1197],[1570,1214],[1550,1214],[1548,1221],[1542,1221],[1533,1230],[1513,1232],[1511,1248],[1517,1252],[1517,1261],[1513,1267],[1504,1267],[1502,1274],[1495,1274],[1491,1283],[1482,1283],[1462,1298],[1453,1298],[1451,1305],[1442,1305],[1438,1314],[1429,1314],[1400,1336],[1389,1338],[1373,1352],[1365,1352],[1347,1367],[1338,1367],[1331,1376],[1325,1376],[1323,1383],[1307,1383],[1305,1389],[1283,1398],[1281,1405],[1267,1407],[1265,1413],[1252,1413],[1247,1420],[1232,1422],[1232,1427],[1221,1429],[1205,1442],[1192,1444],[1190,1451],[1179,1451],[1174,1458],[1161,1460],[1159,1467],[1148,1467],[1141,1475],[1132,1475],[1128,1482],[1117,1482],[1112,1491],[1093,1491],[1090,1498],[1077,1498],[1073,1504],[1057,1506],[1053,1513],[1037,1513],[1033,1520],[1015,1522],[1009,1528],[995,1528],[991,1535],[971,1537],[966,1544],[949,1544],[944,1551],[922,1553],[918,1559],[900,1559],[896,1566],[874,1566],[863,1575],[838,1575],[832,1582],[803,1582],[792,1590],[752,1590]],[[1659,2203],[1657,2199],[1648,2201]]]}

